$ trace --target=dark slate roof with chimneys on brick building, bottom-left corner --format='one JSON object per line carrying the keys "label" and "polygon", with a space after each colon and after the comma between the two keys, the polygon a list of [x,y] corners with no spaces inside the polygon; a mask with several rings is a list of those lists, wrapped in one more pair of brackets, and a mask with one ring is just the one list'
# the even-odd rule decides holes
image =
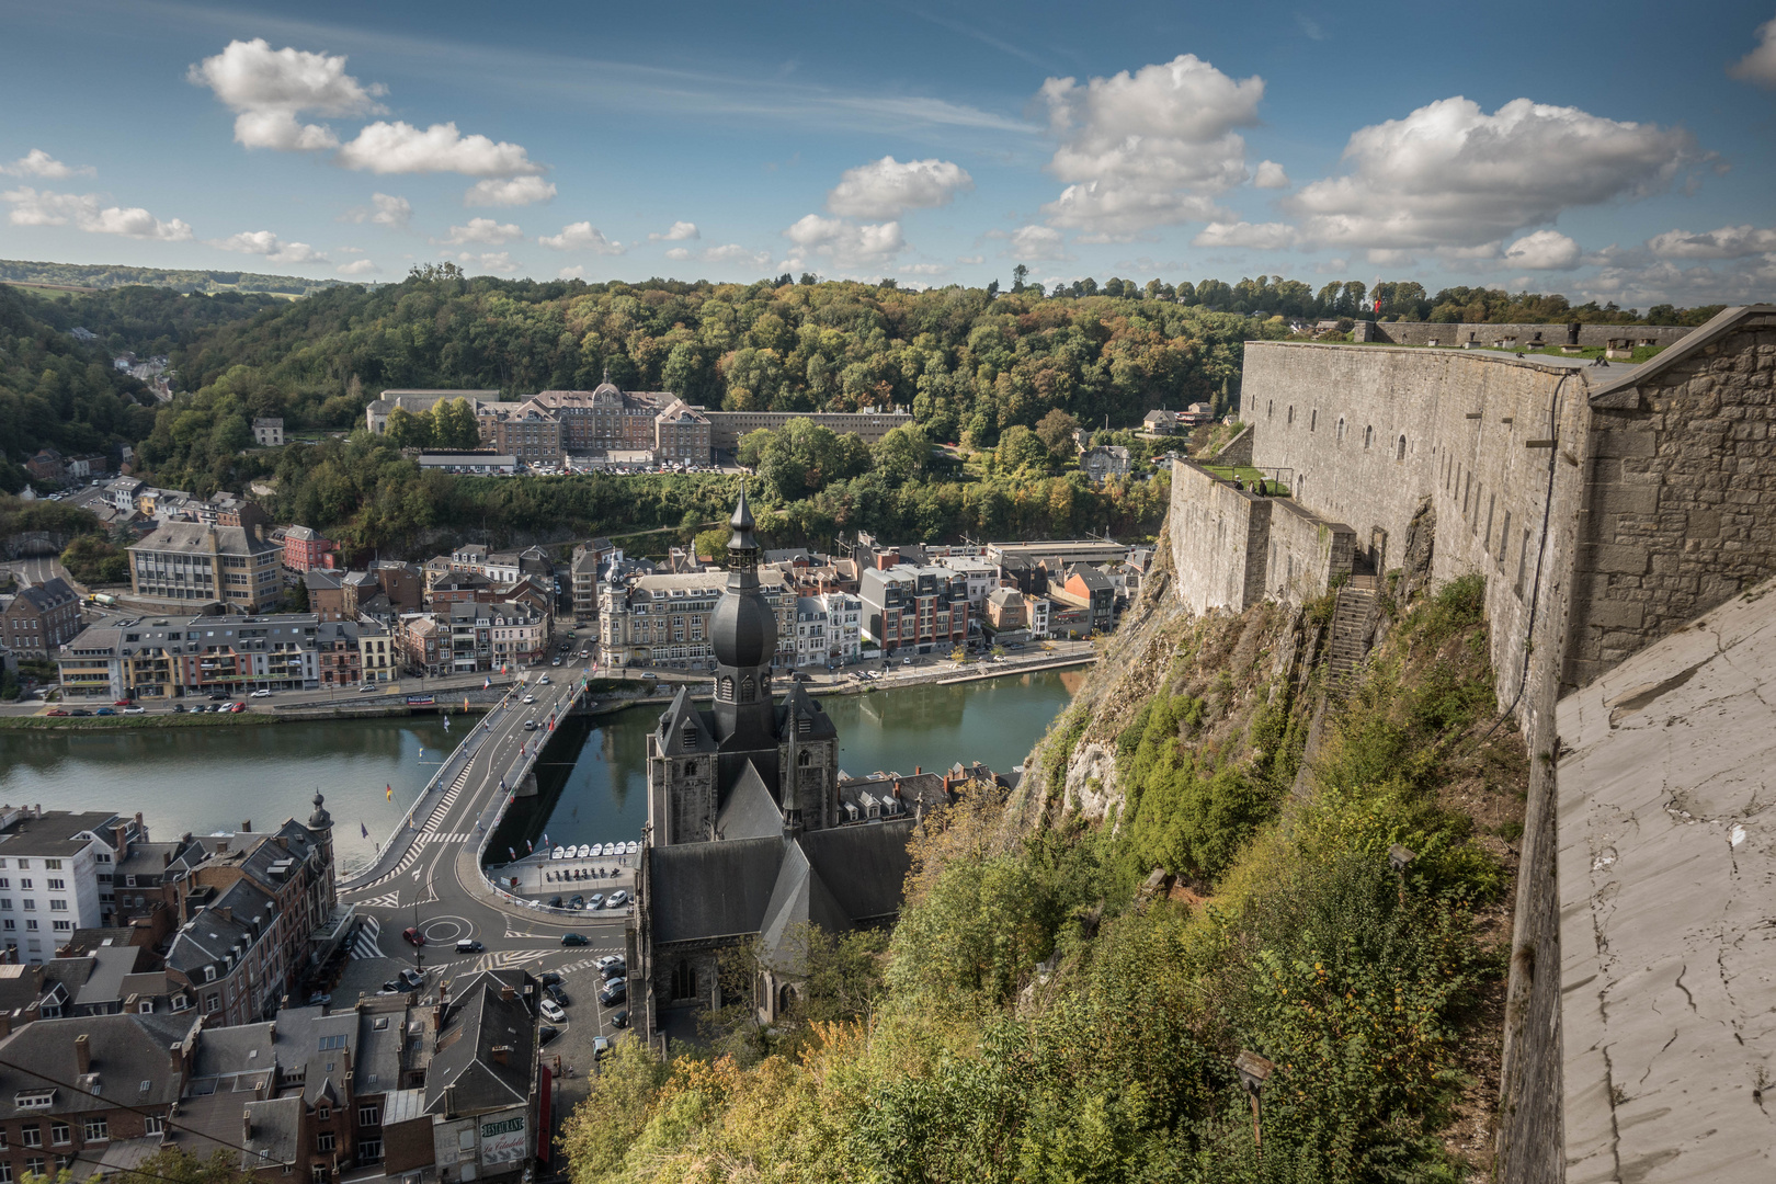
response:
{"label": "dark slate roof with chimneys on brick building, bottom-left corner", "polygon": [[[179,1081],[169,1072],[167,1049],[190,1035],[195,1015],[75,1015],[39,1019],[0,1042],[0,1120],[21,1115],[78,1115],[117,1106],[162,1108],[179,1097]],[[91,1076],[80,1083],[75,1037],[87,1037],[92,1051]],[[36,1072],[14,1069],[30,1065]],[[41,1076],[39,1076],[41,1074]],[[48,1079],[48,1081],[46,1081]],[[89,1097],[53,1081],[82,1085]],[[147,1083],[147,1088],[142,1088]],[[20,1109],[18,1095],[55,1088],[48,1106]]]}

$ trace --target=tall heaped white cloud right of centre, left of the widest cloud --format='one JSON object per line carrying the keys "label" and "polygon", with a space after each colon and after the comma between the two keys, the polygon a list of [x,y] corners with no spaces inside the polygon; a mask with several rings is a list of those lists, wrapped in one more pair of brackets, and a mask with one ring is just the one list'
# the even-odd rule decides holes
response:
{"label": "tall heaped white cloud right of centre, left of the widest cloud", "polygon": [[1130,75],[1050,78],[1039,98],[1060,138],[1048,172],[1067,181],[1043,213],[1083,241],[1126,241],[1158,225],[1209,218],[1213,195],[1247,179],[1259,76],[1234,82],[1193,53]]}

